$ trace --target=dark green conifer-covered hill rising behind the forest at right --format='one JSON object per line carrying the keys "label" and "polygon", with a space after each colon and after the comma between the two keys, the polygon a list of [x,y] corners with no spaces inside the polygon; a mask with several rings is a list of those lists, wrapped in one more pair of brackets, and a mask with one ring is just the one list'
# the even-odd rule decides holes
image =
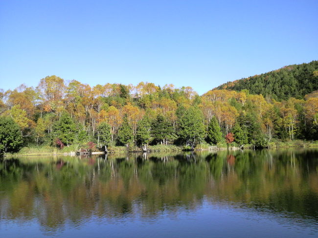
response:
{"label": "dark green conifer-covered hill rising behind the forest at right", "polygon": [[318,90],[318,61],[288,65],[268,73],[227,82],[216,89],[248,89],[252,94],[272,96],[276,100],[286,100],[290,97],[301,99],[306,94]]}

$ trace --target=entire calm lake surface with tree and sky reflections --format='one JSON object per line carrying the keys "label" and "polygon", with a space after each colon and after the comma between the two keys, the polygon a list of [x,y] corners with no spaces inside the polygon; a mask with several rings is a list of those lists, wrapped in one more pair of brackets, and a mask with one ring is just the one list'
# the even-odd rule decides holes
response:
{"label": "entire calm lake surface with tree and sky reflections", "polygon": [[318,150],[0,160],[0,237],[318,237]]}

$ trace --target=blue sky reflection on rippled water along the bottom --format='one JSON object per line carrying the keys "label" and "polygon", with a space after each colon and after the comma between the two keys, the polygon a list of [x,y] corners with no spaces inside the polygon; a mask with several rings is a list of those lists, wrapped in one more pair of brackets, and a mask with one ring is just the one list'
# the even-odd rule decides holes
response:
{"label": "blue sky reflection on rippled water along the bottom", "polygon": [[[287,215],[287,216],[285,216]],[[55,228],[40,227],[36,219],[1,221],[1,234],[17,237],[257,237],[298,238],[316,237],[318,224],[299,221],[288,214],[255,212],[253,209],[236,209],[204,201],[194,210],[178,209],[156,214],[154,217],[127,215],[117,218],[91,216],[76,223],[66,220]],[[2,229],[5,227],[5,229]]]}

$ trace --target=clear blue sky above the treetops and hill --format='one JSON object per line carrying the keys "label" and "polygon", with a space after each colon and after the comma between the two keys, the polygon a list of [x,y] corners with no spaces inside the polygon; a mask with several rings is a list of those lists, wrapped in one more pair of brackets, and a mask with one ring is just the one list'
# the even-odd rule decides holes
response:
{"label": "clear blue sky above the treetops and hill", "polygon": [[1,0],[0,88],[191,86],[318,60],[318,0]]}

